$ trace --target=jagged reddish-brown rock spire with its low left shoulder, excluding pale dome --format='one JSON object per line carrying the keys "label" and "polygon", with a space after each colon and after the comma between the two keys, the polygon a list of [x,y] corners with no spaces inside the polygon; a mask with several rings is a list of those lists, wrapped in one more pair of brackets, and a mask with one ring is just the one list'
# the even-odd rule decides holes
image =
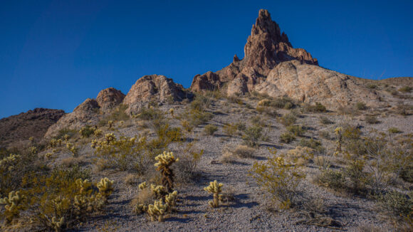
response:
{"label": "jagged reddish-brown rock spire with its low left shoulder, excluding pale dome", "polygon": [[270,70],[283,61],[300,60],[301,63],[318,65],[317,59],[303,48],[293,48],[286,33],[281,33],[280,27],[271,20],[266,10],[259,11],[244,53],[244,59],[240,60],[235,55],[229,66],[216,73],[196,75],[191,90],[221,89],[224,83],[229,83],[229,95],[246,93],[253,90],[253,85],[265,80]]}

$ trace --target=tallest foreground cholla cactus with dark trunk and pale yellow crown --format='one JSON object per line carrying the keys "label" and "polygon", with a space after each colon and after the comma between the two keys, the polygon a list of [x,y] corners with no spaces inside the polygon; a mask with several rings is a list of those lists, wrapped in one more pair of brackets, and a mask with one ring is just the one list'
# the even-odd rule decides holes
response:
{"label": "tallest foreground cholla cactus with dark trunk and pale yellow crown", "polygon": [[167,187],[169,192],[172,192],[174,188],[174,173],[172,169],[170,169],[170,166],[174,162],[177,162],[179,158],[175,158],[172,152],[164,152],[155,157],[155,160],[157,160],[155,167],[157,167],[157,171],[160,171],[162,174],[162,185]]}

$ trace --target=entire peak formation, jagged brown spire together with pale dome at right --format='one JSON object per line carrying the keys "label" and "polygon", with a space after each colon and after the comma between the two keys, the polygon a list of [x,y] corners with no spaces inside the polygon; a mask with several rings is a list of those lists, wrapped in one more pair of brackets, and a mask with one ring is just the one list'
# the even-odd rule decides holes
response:
{"label": "entire peak formation, jagged brown spire together with pale dome at right", "polygon": [[318,60],[303,48],[293,48],[286,33],[260,10],[251,36],[244,47],[242,60],[217,71],[196,75],[191,90],[221,90],[227,95],[252,91],[273,97],[286,95],[305,102],[321,102],[330,109],[365,100],[377,103],[374,91],[365,88],[357,78],[318,66]]}

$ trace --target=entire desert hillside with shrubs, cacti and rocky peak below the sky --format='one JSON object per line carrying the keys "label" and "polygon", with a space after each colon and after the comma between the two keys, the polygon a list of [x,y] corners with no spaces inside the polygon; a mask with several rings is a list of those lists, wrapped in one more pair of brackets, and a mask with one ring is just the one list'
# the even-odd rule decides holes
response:
{"label": "entire desert hillside with shrubs, cacti and rocky peak below the sky", "polygon": [[1,230],[412,231],[413,78],[320,67],[266,10],[244,51],[0,120]]}

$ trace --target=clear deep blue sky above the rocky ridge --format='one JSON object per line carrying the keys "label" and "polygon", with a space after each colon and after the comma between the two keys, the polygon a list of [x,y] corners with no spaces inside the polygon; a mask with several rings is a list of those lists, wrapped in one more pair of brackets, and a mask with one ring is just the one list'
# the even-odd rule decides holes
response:
{"label": "clear deep blue sky above the rocky ridge", "polygon": [[412,1],[1,1],[0,118],[71,112],[142,75],[189,87],[244,57],[259,9],[321,66],[362,78],[413,75]]}

